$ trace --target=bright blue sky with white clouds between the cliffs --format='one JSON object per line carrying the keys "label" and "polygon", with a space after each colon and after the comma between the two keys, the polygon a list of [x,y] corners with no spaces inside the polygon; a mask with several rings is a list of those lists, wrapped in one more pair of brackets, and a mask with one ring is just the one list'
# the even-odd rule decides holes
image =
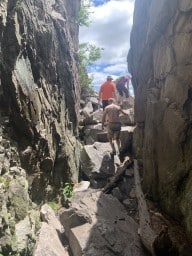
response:
{"label": "bright blue sky with white clouds between the cliffs", "polygon": [[[80,27],[80,43],[94,44],[101,58],[87,67],[93,75],[93,87],[99,90],[108,75],[114,79],[127,75],[127,54],[130,48],[134,0],[93,0],[89,27]],[[132,91],[132,87],[130,88]],[[133,92],[132,92],[133,94]]]}

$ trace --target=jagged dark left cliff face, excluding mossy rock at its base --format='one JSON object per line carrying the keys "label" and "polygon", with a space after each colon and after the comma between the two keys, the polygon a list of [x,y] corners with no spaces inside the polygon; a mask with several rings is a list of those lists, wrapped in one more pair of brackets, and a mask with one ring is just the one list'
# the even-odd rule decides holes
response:
{"label": "jagged dark left cliff face, excluding mossy rock at its base", "polygon": [[48,184],[59,188],[78,177],[80,0],[1,0],[0,6],[2,135],[18,143],[16,164],[41,200]]}

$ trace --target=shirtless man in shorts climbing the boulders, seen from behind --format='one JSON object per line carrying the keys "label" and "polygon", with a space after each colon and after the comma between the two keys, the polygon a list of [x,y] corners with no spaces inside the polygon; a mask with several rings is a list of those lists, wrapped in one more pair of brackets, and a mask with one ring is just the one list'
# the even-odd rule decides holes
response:
{"label": "shirtless man in shorts climbing the boulders, seen from behind", "polygon": [[102,129],[104,130],[104,125],[107,120],[108,122],[107,138],[112,148],[112,154],[115,155],[116,150],[115,150],[114,140],[116,140],[119,153],[121,151],[120,150],[121,122],[120,122],[119,114],[123,113],[124,115],[127,115],[127,113],[125,113],[120,106],[115,104],[114,98],[108,99],[108,103],[109,105],[105,108],[105,111],[102,117]]}

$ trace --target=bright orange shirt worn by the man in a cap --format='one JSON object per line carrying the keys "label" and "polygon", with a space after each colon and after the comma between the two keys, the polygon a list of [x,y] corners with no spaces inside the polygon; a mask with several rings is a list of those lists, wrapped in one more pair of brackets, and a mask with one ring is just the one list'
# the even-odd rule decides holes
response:
{"label": "bright orange shirt worn by the man in a cap", "polygon": [[102,100],[108,100],[109,98],[115,98],[115,84],[111,81],[106,81],[101,85],[99,90],[99,97]]}

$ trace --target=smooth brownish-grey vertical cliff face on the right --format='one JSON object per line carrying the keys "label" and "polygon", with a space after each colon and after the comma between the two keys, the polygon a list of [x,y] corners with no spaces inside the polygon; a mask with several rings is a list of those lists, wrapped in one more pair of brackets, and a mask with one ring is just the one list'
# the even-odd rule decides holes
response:
{"label": "smooth brownish-grey vertical cliff face on the right", "polygon": [[136,0],[129,70],[144,189],[192,233],[190,0]]}

